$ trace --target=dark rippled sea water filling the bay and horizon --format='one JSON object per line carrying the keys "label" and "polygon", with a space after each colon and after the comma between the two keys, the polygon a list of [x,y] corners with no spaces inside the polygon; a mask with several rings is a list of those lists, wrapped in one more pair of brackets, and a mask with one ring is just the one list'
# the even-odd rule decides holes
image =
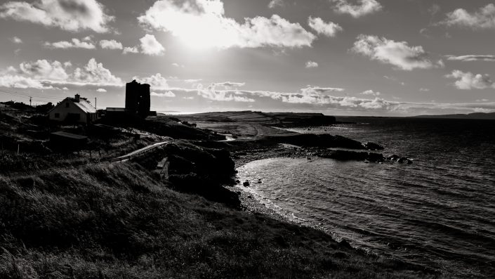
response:
{"label": "dark rippled sea water filling the bay and horizon", "polygon": [[447,278],[495,278],[495,121],[345,121],[359,123],[297,131],[373,141],[414,164],[272,158],[240,167],[240,179],[280,214],[355,247]]}

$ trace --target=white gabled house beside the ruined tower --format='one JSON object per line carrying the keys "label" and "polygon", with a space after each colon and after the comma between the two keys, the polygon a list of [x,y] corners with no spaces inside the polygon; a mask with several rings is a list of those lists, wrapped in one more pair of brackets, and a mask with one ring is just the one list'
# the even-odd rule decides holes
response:
{"label": "white gabled house beside the ruined tower", "polygon": [[48,112],[48,118],[58,122],[89,124],[98,118],[96,109],[86,98],[76,94],[74,98],[67,97]]}

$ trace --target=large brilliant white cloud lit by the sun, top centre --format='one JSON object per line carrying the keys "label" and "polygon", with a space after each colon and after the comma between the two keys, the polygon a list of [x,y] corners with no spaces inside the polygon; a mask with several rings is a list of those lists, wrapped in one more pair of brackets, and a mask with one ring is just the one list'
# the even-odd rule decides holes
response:
{"label": "large brilliant white cloud lit by the sun, top centre", "polygon": [[316,39],[299,23],[279,15],[245,18],[244,23],[239,23],[225,17],[220,0],[156,1],[138,21],[154,30],[169,32],[191,47],[301,48],[311,46]]}

